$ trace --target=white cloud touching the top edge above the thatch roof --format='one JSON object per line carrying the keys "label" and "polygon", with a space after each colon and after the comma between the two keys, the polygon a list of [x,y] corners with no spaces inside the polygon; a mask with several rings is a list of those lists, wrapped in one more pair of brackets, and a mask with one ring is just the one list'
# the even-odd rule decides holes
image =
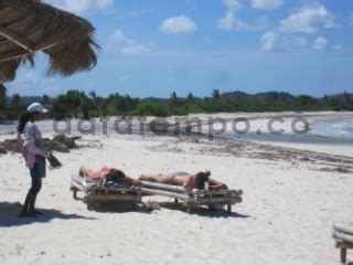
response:
{"label": "white cloud touching the top edge above the thatch roof", "polygon": [[113,7],[113,0],[44,0],[58,9],[75,13],[85,13],[88,11],[103,11]]}

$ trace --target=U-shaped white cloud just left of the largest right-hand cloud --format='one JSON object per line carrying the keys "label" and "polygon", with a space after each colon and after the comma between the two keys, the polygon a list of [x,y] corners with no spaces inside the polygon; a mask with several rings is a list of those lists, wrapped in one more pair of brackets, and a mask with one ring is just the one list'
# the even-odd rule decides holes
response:
{"label": "U-shaped white cloud just left of the largest right-hand cloud", "polygon": [[235,10],[229,9],[226,14],[220,19],[218,28],[225,31],[257,31],[267,26],[268,20],[259,17],[254,23],[247,23],[236,17]]}

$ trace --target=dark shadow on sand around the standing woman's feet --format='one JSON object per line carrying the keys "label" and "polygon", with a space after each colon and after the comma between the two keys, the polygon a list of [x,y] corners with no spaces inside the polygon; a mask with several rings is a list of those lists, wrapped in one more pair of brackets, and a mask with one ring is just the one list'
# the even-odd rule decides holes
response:
{"label": "dark shadow on sand around the standing woman's feet", "polygon": [[0,227],[20,226],[31,223],[47,223],[53,219],[61,220],[73,220],[73,219],[85,219],[95,220],[93,218],[86,218],[77,214],[66,214],[54,209],[40,209],[43,215],[38,218],[19,218],[21,211],[21,203],[19,202],[0,202]]}

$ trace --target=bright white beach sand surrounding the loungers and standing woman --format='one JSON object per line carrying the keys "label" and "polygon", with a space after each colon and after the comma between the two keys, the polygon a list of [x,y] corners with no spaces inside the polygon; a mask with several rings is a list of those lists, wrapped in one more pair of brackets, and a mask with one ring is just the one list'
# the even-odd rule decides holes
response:
{"label": "bright white beach sand surrounding the loungers and standing woman", "polygon": [[[353,205],[353,156],[340,145],[322,153],[328,145],[315,151],[298,142],[291,149],[137,135],[84,136],[78,145],[56,153],[64,167],[47,172],[38,199],[45,214],[38,219],[17,218],[30,186],[21,156],[0,157],[0,264],[339,264],[331,227],[352,221]],[[243,189],[244,201],[229,216],[173,208],[88,211],[68,191],[81,165],[115,166],[133,177],[210,169]]]}

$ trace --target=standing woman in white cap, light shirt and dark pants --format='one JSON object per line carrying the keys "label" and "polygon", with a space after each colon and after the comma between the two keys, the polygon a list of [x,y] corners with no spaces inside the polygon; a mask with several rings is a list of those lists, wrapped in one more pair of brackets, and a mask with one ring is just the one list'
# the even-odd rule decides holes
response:
{"label": "standing woman in white cap, light shirt and dark pants", "polygon": [[31,216],[42,214],[34,209],[35,199],[42,188],[42,178],[45,177],[45,158],[52,153],[44,148],[42,134],[35,121],[43,119],[43,114],[47,110],[39,103],[31,104],[21,116],[18,126],[18,140],[22,148],[25,166],[30,169],[32,186],[29,190],[20,216]]}

